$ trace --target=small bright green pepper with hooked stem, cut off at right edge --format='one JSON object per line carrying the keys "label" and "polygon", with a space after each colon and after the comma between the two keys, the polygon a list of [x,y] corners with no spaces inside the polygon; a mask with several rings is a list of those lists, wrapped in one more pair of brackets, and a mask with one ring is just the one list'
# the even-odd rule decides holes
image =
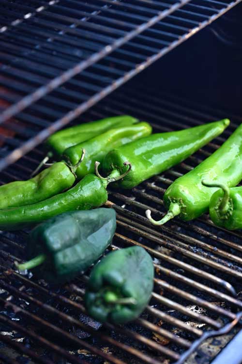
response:
{"label": "small bright green pepper with hooked stem, cut off at right edge", "polygon": [[228,230],[242,229],[242,187],[228,188],[222,183],[202,181],[207,187],[219,188],[212,194],[209,215],[212,222]]}

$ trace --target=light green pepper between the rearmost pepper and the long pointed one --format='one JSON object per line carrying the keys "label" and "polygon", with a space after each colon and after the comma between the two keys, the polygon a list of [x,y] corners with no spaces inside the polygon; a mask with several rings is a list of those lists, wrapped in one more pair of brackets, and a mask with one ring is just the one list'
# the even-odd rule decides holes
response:
{"label": "light green pepper between the rearmost pepper and the long pointed one", "polygon": [[82,163],[76,169],[78,179],[83,178],[89,173],[95,171],[95,161],[102,163],[106,154],[123,144],[127,144],[136,139],[150,135],[152,128],[148,123],[138,123],[128,127],[119,127],[109,129],[105,133],[98,135],[86,142],[76,144],[65,150],[63,158],[75,165],[81,158],[82,149],[85,149],[86,155]]}

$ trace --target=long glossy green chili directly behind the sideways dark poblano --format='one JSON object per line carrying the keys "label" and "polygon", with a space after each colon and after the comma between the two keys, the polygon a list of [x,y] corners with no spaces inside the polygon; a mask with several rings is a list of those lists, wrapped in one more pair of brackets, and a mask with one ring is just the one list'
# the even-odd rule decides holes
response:
{"label": "long glossy green chili directly behind the sideways dark poblano", "polygon": [[63,212],[89,210],[107,201],[107,182],[88,174],[70,190],[37,204],[0,210],[0,230],[17,230]]}

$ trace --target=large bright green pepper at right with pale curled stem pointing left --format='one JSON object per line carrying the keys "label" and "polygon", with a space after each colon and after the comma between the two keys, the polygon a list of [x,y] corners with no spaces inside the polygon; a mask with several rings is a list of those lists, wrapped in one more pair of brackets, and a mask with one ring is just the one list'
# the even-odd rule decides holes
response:
{"label": "large bright green pepper at right with pale curled stem pointing left", "polygon": [[217,187],[206,187],[202,181],[211,181],[214,185],[236,186],[242,179],[242,124],[224,144],[209,158],[205,159],[192,171],[178,178],[164,194],[167,215],[160,221],[148,219],[161,225],[179,215],[181,220],[193,220],[207,212],[212,194]]}

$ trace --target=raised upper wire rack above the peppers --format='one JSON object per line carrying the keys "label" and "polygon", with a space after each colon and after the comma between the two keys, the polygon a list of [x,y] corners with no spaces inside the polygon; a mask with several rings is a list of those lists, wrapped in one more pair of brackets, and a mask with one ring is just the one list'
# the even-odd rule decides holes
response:
{"label": "raised upper wire rack above the peppers", "polygon": [[1,0],[0,170],[239,2]]}

